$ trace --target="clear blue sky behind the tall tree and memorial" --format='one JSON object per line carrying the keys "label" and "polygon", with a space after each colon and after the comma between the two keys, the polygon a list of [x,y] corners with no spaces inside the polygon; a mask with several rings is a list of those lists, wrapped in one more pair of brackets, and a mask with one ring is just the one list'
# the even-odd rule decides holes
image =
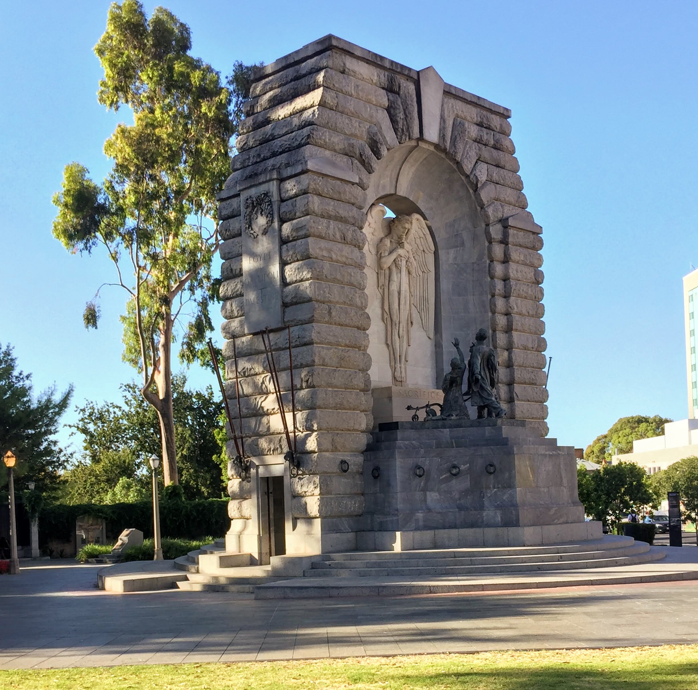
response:
{"label": "clear blue sky behind the tall tree and memorial", "polygon": [[[223,75],[335,33],[512,109],[529,210],[544,228],[551,435],[584,446],[628,414],[687,416],[681,278],[698,265],[698,3],[165,3]],[[51,236],[77,160],[97,179],[107,113],[92,47],[109,3],[0,2],[0,342],[43,389],[115,400],[124,295]],[[146,2],[150,12],[156,3]],[[216,333],[218,340],[221,339]],[[468,334],[463,333],[467,338]],[[201,371],[197,385],[212,382]],[[75,418],[71,412],[66,421]]]}

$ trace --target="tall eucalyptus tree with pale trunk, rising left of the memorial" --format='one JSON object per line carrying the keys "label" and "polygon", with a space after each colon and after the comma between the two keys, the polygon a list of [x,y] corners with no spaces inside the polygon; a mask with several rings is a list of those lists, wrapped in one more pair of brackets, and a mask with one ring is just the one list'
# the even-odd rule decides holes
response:
{"label": "tall eucalyptus tree with pale trunk, rising left of the memorial", "polygon": [[[211,260],[221,245],[215,194],[230,172],[251,74],[235,63],[226,87],[190,49],[189,27],[169,10],[148,18],[136,0],[112,3],[95,46],[104,70],[98,100],[128,107],[133,124],[119,124],[105,142],[112,169],[103,183],[70,163],[53,199],[54,237],[72,253],[101,247],[113,284],[126,291],[123,357],[142,374],[141,394],[158,417],[165,484],[179,481],[172,343],[179,339],[184,363],[207,359],[219,283]],[[88,328],[98,324],[98,293],[85,308]]]}

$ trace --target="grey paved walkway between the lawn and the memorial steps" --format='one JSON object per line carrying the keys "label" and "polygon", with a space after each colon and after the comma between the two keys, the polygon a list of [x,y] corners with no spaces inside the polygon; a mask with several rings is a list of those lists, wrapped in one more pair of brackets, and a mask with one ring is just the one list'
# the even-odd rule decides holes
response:
{"label": "grey paved walkway between the lawn and the memorial steps", "polygon": [[0,576],[0,668],[698,643],[698,583],[283,599],[97,590],[101,566]]}

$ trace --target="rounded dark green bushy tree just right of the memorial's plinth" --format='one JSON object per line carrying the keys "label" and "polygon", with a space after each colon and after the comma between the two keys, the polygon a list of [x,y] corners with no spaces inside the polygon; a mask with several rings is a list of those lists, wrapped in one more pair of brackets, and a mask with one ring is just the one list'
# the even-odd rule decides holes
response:
{"label": "rounded dark green bushy tree just right of the memorial's plinth", "polygon": [[612,529],[631,510],[655,504],[647,473],[635,463],[603,465],[588,474],[580,467],[577,490],[584,512]]}

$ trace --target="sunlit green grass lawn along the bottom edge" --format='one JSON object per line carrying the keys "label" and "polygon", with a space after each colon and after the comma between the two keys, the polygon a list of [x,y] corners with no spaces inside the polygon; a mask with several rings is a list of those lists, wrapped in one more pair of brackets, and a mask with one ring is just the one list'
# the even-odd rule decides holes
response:
{"label": "sunlit green grass lawn along the bottom edge", "polygon": [[698,689],[698,645],[0,671],[3,690]]}

